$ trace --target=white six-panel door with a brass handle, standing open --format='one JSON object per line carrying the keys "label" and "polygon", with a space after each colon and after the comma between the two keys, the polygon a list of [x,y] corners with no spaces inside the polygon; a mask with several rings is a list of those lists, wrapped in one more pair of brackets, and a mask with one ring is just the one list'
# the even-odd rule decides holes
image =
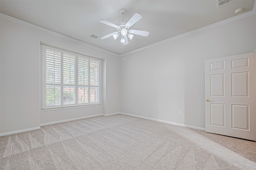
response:
{"label": "white six-panel door with a brass handle, standing open", "polygon": [[256,141],[256,52],[205,61],[205,131]]}

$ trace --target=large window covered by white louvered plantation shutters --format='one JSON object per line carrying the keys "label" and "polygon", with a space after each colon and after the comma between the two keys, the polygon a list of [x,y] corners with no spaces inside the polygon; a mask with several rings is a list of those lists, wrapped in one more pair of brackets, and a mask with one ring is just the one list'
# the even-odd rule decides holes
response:
{"label": "large window covered by white louvered plantation shutters", "polygon": [[43,45],[43,109],[100,104],[100,62]]}

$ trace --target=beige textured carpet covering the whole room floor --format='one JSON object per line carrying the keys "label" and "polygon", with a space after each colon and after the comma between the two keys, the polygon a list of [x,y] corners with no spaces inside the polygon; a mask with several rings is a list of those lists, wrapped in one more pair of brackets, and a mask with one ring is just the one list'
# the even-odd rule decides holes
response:
{"label": "beige textured carpet covering the whole room floor", "polygon": [[0,137],[1,170],[256,170],[256,142],[126,115]]}

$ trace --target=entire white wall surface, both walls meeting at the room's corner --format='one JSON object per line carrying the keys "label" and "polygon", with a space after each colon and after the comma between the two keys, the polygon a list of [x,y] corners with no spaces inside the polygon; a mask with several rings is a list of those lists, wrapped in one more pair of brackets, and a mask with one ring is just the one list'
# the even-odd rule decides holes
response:
{"label": "entire white wall surface, both walls meeting at the room's corner", "polygon": [[[130,54],[125,60],[3,18],[0,22],[0,133],[120,111],[203,128],[204,60],[256,49],[256,15]],[[43,112],[40,43],[102,59],[106,107]]]}

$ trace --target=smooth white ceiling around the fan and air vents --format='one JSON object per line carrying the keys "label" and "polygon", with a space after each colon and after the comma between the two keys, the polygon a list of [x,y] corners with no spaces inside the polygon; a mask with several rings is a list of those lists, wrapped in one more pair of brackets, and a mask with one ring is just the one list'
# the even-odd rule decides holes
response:
{"label": "smooth white ceiling around the fan and air vents", "polygon": [[[1,0],[0,12],[104,50],[123,54],[124,51],[132,52],[250,12],[254,1],[235,0],[216,8],[216,0]],[[122,8],[126,9],[124,22],[135,13],[142,15],[142,19],[130,29],[148,31],[148,37],[134,35],[127,45],[120,43],[120,36],[116,40],[112,36],[100,39],[116,29],[99,20],[119,24],[122,22]],[[240,14],[235,14],[234,11],[238,8],[244,9]],[[89,37],[90,34],[99,38],[93,39]]]}

